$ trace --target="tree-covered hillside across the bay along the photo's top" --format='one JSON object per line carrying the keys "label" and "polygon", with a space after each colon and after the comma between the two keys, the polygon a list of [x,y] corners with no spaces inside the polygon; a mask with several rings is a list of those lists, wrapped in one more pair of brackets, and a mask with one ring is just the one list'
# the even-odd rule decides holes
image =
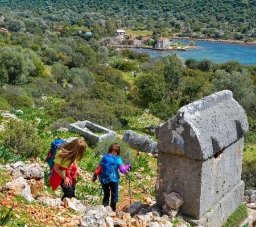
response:
{"label": "tree-covered hillside across the bay along the photo's top", "polygon": [[[1,1],[2,13],[94,28],[153,30],[169,36],[254,40],[256,3],[243,1]],[[113,30],[112,30],[113,31]],[[111,29],[109,31],[111,33]]]}

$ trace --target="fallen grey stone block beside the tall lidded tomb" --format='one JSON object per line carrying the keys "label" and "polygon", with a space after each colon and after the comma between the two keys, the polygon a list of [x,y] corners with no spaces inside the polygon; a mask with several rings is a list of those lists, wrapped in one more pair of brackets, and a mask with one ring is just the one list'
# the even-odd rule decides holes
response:
{"label": "fallen grey stone block beside the tall lidded tomb", "polygon": [[151,154],[158,153],[158,144],[154,140],[137,132],[127,130],[125,134],[123,134],[123,141],[128,142],[131,148],[141,150],[142,152]]}

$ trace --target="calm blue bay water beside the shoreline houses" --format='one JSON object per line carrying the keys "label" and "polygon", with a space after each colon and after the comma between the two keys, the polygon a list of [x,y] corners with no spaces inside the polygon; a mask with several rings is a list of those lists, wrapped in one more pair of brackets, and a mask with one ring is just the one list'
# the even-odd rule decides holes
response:
{"label": "calm blue bay water beside the shoreline houses", "polygon": [[[189,40],[180,41],[181,43],[189,44]],[[188,51],[170,51],[164,53],[155,53],[156,51],[146,49],[131,49],[139,52],[154,52],[150,53],[151,57],[177,53],[179,56],[185,58],[185,60],[193,58],[196,61],[200,61],[207,58],[216,63],[238,61],[243,65],[256,65],[256,45],[216,43],[209,41],[195,41],[195,44],[197,45],[197,49],[191,49]]]}

